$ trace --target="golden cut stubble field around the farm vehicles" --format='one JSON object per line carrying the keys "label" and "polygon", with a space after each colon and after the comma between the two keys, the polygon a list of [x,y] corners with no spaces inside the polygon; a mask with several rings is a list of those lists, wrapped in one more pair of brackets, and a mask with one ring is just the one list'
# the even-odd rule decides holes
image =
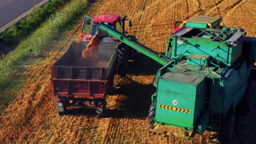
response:
{"label": "golden cut stubble field around the farm vehicles", "polygon": [[[140,43],[154,51],[165,52],[166,37],[173,32],[174,22],[183,21],[188,15],[223,17],[225,25],[243,27],[247,35],[256,37],[255,6],[249,0],[99,0],[90,5],[85,15],[126,15],[133,22],[133,27],[126,27],[130,35],[136,35]],[[22,75],[26,78],[22,81],[24,88],[0,115],[2,143],[208,142],[207,131],[190,141],[149,134],[147,112],[150,96],[155,91],[151,83],[161,65],[141,53],[130,63],[126,75],[115,75],[115,95],[107,96],[105,118],[97,118],[93,110],[83,107],[71,107],[67,115],[57,115],[56,98],[50,87],[50,67],[68,49],[72,39],[79,40],[82,23],[83,17],[63,40],[53,45],[54,49],[43,62],[32,65]],[[252,115],[237,118],[235,142],[256,141],[256,112]]]}

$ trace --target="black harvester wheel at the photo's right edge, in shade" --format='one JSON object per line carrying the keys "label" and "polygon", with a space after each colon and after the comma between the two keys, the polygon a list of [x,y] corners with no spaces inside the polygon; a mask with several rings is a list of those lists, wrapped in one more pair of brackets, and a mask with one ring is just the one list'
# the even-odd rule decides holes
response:
{"label": "black harvester wheel at the photo's right edge, in shade", "polygon": [[256,84],[252,78],[248,79],[245,95],[237,105],[237,111],[241,114],[247,114],[253,110],[256,97]]}

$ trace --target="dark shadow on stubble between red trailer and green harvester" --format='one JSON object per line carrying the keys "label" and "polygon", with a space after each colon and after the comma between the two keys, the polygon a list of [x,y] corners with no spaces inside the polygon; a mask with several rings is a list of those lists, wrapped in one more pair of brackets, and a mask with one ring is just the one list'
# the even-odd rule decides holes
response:
{"label": "dark shadow on stubble between red trailer and green harvester", "polygon": [[[125,95],[124,100],[119,101],[118,110],[107,110],[106,117],[117,118],[136,118],[144,119],[148,115],[151,95],[155,93],[156,88],[152,85],[153,80],[143,80],[143,76],[154,76],[156,71],[162,65],[153,61],[142,53],[137,53],[135,62],[130,62],[127,75],[139,77],[137,82],[127,75],[123,76],[124,81],[117,83],[119,88],[114,90],[115,95]],[[143,84],[143,81],[150,81],[150,84]]]}

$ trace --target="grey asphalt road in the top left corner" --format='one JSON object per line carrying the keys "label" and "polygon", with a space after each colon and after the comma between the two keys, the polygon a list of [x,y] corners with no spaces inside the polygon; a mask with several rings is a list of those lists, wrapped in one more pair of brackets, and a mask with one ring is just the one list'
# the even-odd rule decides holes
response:
{"label": "grey asphalt road in the top left corner", "polygon": [[0,0],[0,27],[43,0]]}

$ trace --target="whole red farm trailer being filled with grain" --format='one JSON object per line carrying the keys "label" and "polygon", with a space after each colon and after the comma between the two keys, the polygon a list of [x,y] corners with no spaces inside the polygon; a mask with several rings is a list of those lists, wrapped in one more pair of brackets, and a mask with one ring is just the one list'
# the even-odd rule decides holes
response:
{"label": "whole red farm trailer being filled with grain", "polygon": [[93,56],[82,57],[89,41],[72,42],[65,54],[51,66],[51,84],[63,115],[67,106],[94,107],[98,116],[106,109],[106,95],[113,86],[118,43],[101,43]]}

